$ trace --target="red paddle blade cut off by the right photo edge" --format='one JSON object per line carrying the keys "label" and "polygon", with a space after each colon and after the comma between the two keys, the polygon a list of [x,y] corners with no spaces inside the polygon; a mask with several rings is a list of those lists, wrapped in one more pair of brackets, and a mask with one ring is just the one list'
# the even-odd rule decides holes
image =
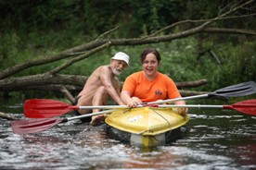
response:
{"label": "red paddle blade cut off by the right photo edge", "polygon": [[225,108],[231,108],[248,115],[256,115],[256,99],[234,103],[233,105],[224,105]]}

